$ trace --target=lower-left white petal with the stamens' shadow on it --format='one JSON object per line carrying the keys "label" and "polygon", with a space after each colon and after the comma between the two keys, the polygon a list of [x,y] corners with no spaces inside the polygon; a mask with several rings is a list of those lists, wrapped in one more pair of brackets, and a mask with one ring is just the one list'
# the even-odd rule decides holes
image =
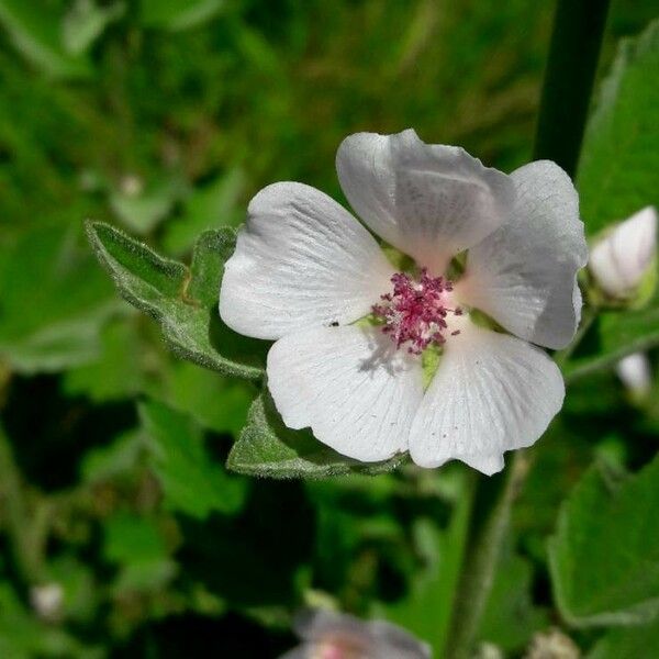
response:
{"label": "lower-left white petal with the stamens' shadow on it", "polygon": [[377,327],[320,327],[280,338],[268,388],[287,426],[311,427],[338,453],[372,462],[407,449],[423,395],[418,358]]}

